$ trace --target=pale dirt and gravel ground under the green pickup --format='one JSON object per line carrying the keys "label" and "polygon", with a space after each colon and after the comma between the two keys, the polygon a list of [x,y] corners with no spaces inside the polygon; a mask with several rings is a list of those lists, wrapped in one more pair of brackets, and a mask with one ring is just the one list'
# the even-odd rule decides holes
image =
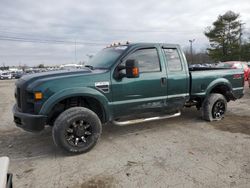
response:
{"label": "pale dirt and gravel ground under the green pickup", "polygon": [[250,187],[250,90],[219,122],[195,108],[181,117],[127,127],[107,125],[87,154],[67,156],[52,141],[15,127],[14,81],[0,81],[0,156],[14,187]]}

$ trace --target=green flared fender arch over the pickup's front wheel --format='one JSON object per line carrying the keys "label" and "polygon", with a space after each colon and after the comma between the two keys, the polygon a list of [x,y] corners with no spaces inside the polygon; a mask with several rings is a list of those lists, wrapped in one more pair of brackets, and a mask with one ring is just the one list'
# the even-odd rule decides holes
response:
{"label": "green flared fender arch over the pickup's front wheel", "polygon": [[70,97],[76,97],[76,96],[82,96],[82,97],[92,97],[99,101],[105,111],[105,116],[109,118],[110,112],[108,108],[108,99],[99,91],[89,88],[89,87],[75,87],[75,88],[67,88],[63,89],[51,97],[49,97],[48,100],[45,101],[45,103],[42,105],[42,108],[39,112],[40,115],[48,115],[52,108],[60,101],[70,98]]}

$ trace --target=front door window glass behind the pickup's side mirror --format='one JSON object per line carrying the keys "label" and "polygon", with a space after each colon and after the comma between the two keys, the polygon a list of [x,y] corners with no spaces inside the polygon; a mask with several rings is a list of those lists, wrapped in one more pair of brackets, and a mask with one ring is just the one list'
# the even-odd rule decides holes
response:
{"label": "front door window glass behind the pickup's side mirror", "polygon": [[140,49],[128,55],[121,65],[125,66],[128,59],[138,61],[140,73],[161,71],[156,48]]}

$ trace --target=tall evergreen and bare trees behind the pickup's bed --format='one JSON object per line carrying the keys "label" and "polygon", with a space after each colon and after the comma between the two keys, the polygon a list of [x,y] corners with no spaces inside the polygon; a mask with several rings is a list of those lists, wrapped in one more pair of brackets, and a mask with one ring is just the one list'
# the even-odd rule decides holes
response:
{"label": "tall evergreen and bare trees behind the pickup's bed", "polygon": [[199,53],[184,49],[188,62],[215,63],[224,61],[250,61],[250,37],[243,36],[245,24],[240,14],[227,11],[219,15],[212,26],[205,28],[209,48]]}

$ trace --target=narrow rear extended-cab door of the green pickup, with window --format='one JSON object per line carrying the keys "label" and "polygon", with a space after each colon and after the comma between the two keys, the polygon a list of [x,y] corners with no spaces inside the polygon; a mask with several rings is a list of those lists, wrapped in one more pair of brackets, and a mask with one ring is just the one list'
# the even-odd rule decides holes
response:
{"label": "narrow rear extended-cab door of the green pickup, with window", "polygon": [[162,54],[167,72],[166,110],[179,111],[189,100],[190,76],[187,61],[178,45],[163,45]]}

